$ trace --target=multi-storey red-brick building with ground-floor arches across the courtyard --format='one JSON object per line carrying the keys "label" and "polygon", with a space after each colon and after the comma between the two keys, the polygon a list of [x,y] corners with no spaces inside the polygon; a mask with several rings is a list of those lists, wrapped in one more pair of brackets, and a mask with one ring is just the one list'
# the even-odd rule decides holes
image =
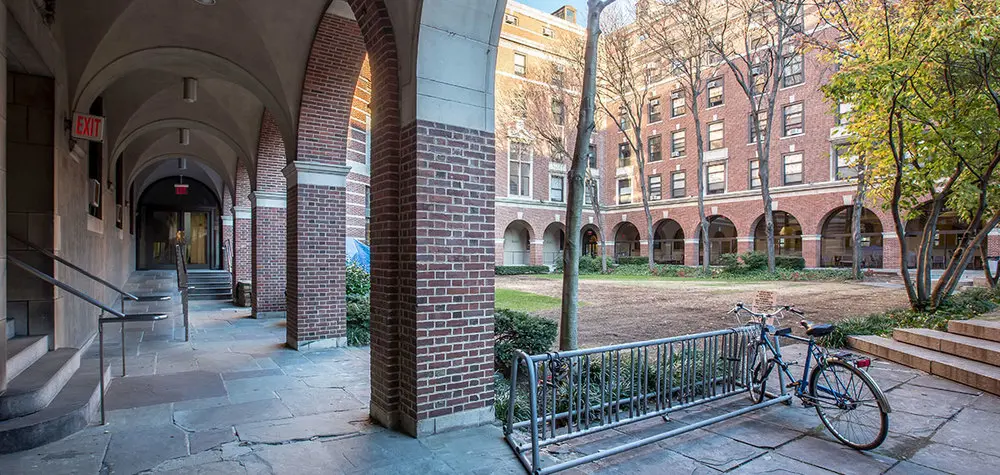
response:
{"label": "multi-storey red-brick building with ground-floor arches across the courtyard", "polygon": [[[527,21],[519,18],[519,23],[533,25],[536,30],[541,24],[561,24],[560,20],[553,21],[544,14],[540,16],[543,20],[538,20],[536,17],[541,12],[516,6],[508,8],[508,15],[528,16],[525,12],[534,16]],[[806,18],[807,29],[813,28],[815,21],[815,18]],[[521,54],[521,58],[530,58],[534,52],[532,47],[546,45],[544,42],[517,42],[518,38],[530,35],[522,29],[505,25],[501,35],[498,94],[504,87],[502,79],[512,77],[509,68],[519,67],[521,61],[514,56],[504,64],[507,55],[503,48],[507,46],[514,54]],[[574,28],[567,28],[567,31],[580,33]],[[636,35],[638,37],[639,33]],[[504,41],[508,38],[509,43]],[[655,64],[653,59],[649,62]],[[830,77],[832,69],[817,53],[810,51],[797,55],[792,63],[793,73],[787,74],[778,85],[774,124],[768,127],[775,252],[803,257],[809,267],[850,266],[853,259],[852,203],[856,189],[850,178],[856,172],[847,166],[847,158],[840,148],[849,137],[838,117],[849,113],[849,107],[831,104],[824,97],[820,87]],[[603,238],[613,249],[609,254],[615,257],[649,255],[638,183],[644,180],[653,215],[654,260],[686,265],[696,265],[700,261],[697,133],[703,134],[707,147],[704,191],[710,223],[711,263],[718,263],[719,256],[725,253],[764,251],[767,240],[757,177],[760,161],[750,133],[750,106],[735,78],[728,68],[718,68],[717,75],[706,79],[706,90],[698,103],[692,104],[682,86],[662,66],[654,66],[651,76],[648,101],[642,105],[643,142],[648,157],[646,176],[639,176],[635,157],[614,123],[620,119],[601,118],[599,114],[598,131],[592,141],[597,168],[592,174],[598,179],[605,229],[599,230],[593,224],[593,214],[589,207],[585,208],[585,219],[590,221],[582,236],[585,251],[596,254],[596,243]],[[689,113],[693,107],[701,111],[701,131],[694,130]],[[609,109],[613,110],[614,106]],[[566,167],[553,162],[544,148],[536,146],[530,150],[527,160],[530,173],[519,179],[524,183],[522,189],[528,192],[512,193],[515,175],[511,170],[523,167],[525,160],[520,158],[523,153],[517,153],[522,148],[516,144],[516,139],[507,143],[501,140],[502,125],[498,121],[497,264],[551,265],[562,248],[565,203],[561,201],[563,194],[558,184]],[[512,183],[509,188],[506,186],[508,181]],[[946,217],[940,225],[940,238],[934,251],[939,256],[935,262],[940,261],[940,265],[954,250],[961,233],[958,230],[961,228],[953,226],[953,222],[954,218]],[[877,203],[866,203],[862,228],[863,265],[898,268],[900,247],[891,215]],[[919,240],[919,229],[918,222],[908,224],[908,231],[912,231],[908,239]],[[990,236],[989,246],[994,254],[1000,250],[1000,233],[995,231]],[[915,249],[915,243],[910,249]],[[982,262],[977,258],[971,266],[981,268]]]}

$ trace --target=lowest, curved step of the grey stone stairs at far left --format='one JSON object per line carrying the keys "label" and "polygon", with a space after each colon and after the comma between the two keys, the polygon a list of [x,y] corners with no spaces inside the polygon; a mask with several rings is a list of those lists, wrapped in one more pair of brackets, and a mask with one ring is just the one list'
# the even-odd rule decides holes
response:
{"label": "lowest, curved step of the grey stone stairs at far left", "polygon": [[[55,399],[41,411],[0,422],[0,454],[33,449],[70,436],[100,420],[97,361],[85,360]],[[111,368],[104,370],[110,383]]]}

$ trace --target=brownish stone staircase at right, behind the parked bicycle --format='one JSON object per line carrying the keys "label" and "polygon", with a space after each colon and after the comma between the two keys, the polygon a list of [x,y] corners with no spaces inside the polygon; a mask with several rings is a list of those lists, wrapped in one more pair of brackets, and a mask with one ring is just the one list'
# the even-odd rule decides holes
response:
{"label": "brownish stone staircase at right, behind the parked bicycle", "polygon": [[948,331],[897,328],[892,339],[852,336],[851,347],[1000,395],[1000,321],[952,320]]}

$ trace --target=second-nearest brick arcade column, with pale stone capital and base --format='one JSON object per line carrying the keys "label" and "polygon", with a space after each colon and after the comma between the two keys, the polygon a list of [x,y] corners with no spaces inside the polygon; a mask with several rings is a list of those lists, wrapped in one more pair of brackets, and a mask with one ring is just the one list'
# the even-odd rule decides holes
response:
{"label": "second-nearest brick arcade column, with pale stone capital and base", "polygon": [[347,345],[346,178],[350,167],[295,161],[288,184],[286,343],[297,350]]}

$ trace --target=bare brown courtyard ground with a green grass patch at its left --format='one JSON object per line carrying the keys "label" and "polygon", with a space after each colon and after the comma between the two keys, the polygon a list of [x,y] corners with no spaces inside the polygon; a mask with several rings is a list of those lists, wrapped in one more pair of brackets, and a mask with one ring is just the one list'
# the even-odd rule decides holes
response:
{"label": "bare brown courtyard ground with a green grass patch at its left", "polygon": [[[533,276],[498,276],[497,288],[558,298],[562,281]],[[781,305],[794,305],[814,322],[906,305],[906,291],[884,284],[840,282],[613,281],[580,282],[580,345],[595,347],[718,330],[737,324],[726,312],[749,305],[759,290],[776,292]],[[559,310],[538,312],[558,320]],[[782,326],[798,328],[787,318]]]}

